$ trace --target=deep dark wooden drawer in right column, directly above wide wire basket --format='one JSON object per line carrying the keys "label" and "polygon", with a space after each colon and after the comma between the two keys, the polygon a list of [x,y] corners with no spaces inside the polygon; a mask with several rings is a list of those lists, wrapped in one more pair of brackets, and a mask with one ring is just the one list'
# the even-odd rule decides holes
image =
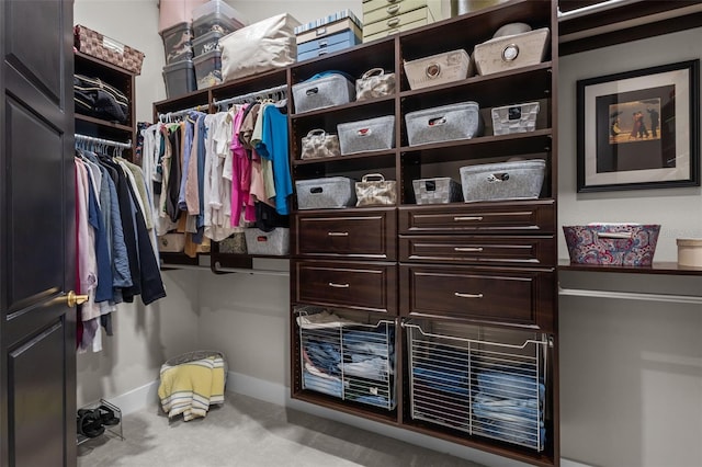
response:
{"label": "deep dark wooden drawer in right column, directly above wide wire basket", "polygon": [[401,315],[540,328],[553,332],[553,270],[399,266]]}

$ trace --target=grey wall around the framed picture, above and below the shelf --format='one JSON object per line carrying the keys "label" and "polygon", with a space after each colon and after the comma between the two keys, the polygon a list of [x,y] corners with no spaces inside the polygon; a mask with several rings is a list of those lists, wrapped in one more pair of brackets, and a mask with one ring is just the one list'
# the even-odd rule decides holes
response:
{"label": "grey wall around the framed picture, above and below the shelf", "polygon": [[[656,261],[676,261],[678,237],[702,237],[699,187],[576,194],[576,81],[700,58],[702,30],[561,58],[562,225],[661,224]],[[698,103],[699,104],[699,103]],[[559,235],[559,255],[567,258]],[[699,295],[702,277],[562,273],[562,285]],[[562,455],[597,466],[702,465],[702,307],[562,297]]]}

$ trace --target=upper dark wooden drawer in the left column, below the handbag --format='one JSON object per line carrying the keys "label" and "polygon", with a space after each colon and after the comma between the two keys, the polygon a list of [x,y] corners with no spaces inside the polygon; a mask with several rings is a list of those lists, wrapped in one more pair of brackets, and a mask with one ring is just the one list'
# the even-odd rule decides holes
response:
{"label": "upper dark wooden drawer in the left column, below the handbag", "polygon": [[293,254],[307,257],[397,259],[397,210],[296,213]]}

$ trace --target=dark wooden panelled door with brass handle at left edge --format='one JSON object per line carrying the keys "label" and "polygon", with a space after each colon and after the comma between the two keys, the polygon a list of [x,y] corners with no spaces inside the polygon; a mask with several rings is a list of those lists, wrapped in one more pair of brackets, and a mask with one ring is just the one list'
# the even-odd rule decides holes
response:
{"label": "dark wooden panelled door with brass handle at left edge", "polygon": [[0,1],[0,466],[76,465],[72,21]]}

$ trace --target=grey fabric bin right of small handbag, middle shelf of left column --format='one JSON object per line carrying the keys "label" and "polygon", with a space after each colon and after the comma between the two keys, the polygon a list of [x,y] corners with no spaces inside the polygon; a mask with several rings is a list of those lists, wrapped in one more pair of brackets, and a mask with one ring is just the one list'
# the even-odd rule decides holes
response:
{"label": "grey fabric bin right of small handbag, middle shelf of left column", "polygon": [[337,133],[341,155],[392,149],[395,147],[395,116],[340,123]]}

